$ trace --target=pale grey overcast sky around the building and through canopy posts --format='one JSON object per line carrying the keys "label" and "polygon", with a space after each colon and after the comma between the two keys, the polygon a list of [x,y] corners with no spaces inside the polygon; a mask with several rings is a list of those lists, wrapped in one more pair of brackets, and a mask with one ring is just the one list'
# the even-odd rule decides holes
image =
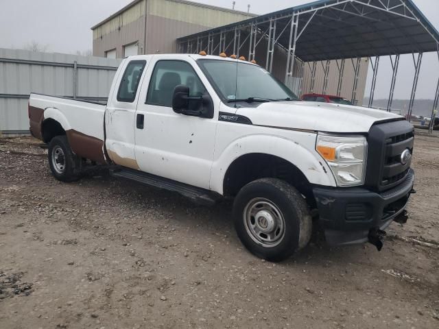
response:
{"label": "pale grey overcast sky around the building and through canopy posts", "polygon": [[[47,51],[75,53],[91,49],[93,25],[106,19],[130,0],[1,0],[0,47],[23,48],[36,40],[47,45]],[[200,3],[232,7],[232,0],[196,0]],[[236,0],[236,10],[265,14],[311,0]],[[439,29],[439,0],[414,0],[420,10]],[[380,62],[376,98],[388,97],[390,65]],[[412,58],[401,56],[395,97],[409,98],[413,80]],[[369,74],[370,75],[370,74]],[[420,73],[417,98],[433,98],[439,75],[438,56],[426,54]],[[366,88],[367,89],[367,88]],[[367,90],[366,90],[367,91]],[[407,95],[408,94],[408,95]]]}

